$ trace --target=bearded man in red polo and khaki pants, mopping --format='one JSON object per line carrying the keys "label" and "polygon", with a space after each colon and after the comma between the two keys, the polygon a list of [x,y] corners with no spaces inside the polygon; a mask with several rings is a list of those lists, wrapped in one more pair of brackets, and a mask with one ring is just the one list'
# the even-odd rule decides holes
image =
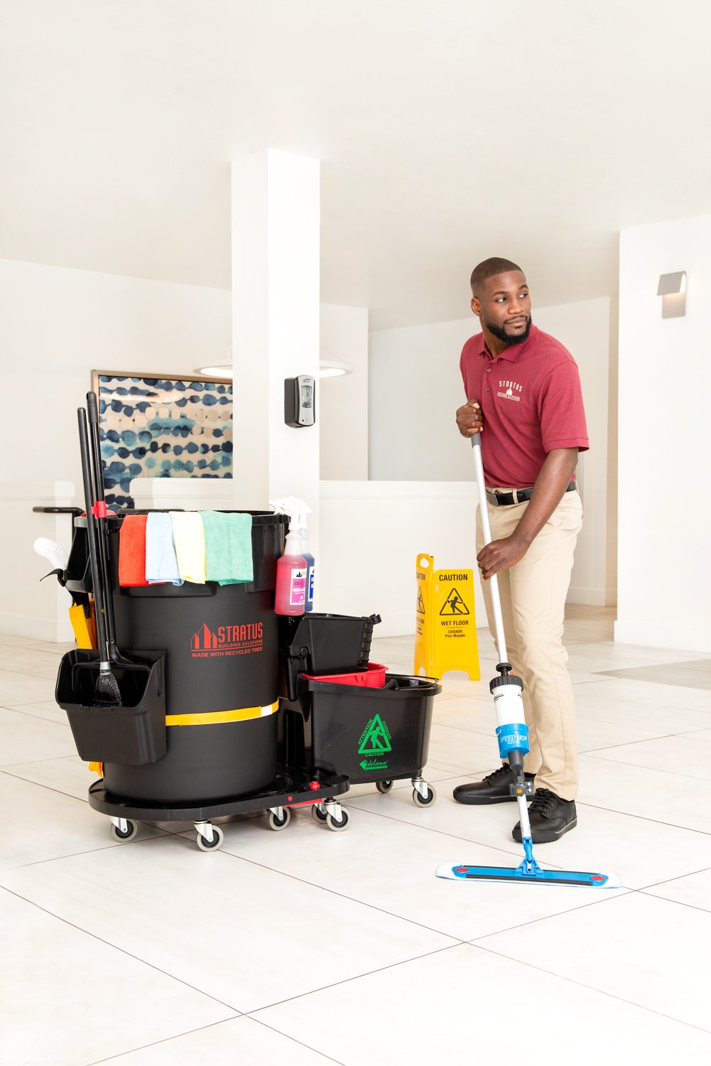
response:
{"label": "bearded man in red polo and khaki pants, mopping", "polygon": [[[508,660],[523,680],[535,777],[530,810],[534,842],[558,840],[577,825],[578,750],[572,687],[563,646],[565,597],[582,526],[575,469],[588,448],[580,375],[570,353],[531,323],[523,272],[486,259],[471,275],[471,309],[482,332],[462,352],[467,403],[456,413],[464,437],[482,433],[492,542],[476,521],[489,629],[488,580],[498,575]],[[458,803],[514,801],[504,763],[483,781],[454,790]],[[520,841],[517,823],[514,840]]]}

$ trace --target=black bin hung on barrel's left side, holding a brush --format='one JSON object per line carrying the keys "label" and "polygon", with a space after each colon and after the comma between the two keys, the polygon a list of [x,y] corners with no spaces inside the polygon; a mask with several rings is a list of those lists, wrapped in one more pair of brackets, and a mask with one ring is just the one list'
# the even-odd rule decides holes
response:
{"label": "black bin hung on barrel's left side, holding a brush", "polygon": [[112,666],[124,705],[95,707],[99,655],[78,649],[62,657],[56,702],[67,712],[79,757],[86,762],[140,766],[165,755],[165,655],[127,651],[145,669]]}

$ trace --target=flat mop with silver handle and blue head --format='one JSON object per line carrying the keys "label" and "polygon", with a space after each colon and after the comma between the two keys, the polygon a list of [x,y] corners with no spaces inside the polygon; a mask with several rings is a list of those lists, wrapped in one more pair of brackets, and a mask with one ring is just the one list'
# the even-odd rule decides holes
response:
{"label": "flat mop with silver handle and blue head", "polygon": [[[479,485],[480,511],[484,530],[484,544],[491,542],[491,526],[486,506],[486,485],[484,482],[484,465],[482,463],[481,434],[471,438],[474,466],[476,468],[476,484]],[[468,866],[465,862],[442,862],[437,867],[437,877],[449,881],[506,881],[518,884],[547,885],[583,885],[587,888],[620,888],[621,884],[614,873],[585,873],[572,870],[542,870],[533,857],[533,841],[531,839],[531,823],[526,803],[527,794],[531,792],[531,782],[527,782],[523,774],[523,756],[529,750],[529,730],[523,714],[521,693],[523,682],[520,677],[512,674],[512,665],[506,662],[506,641],[501,616],[501,600],[499,583],[496,574],[489,578],[491,584],[491,605],[496,628],[496,643],[499,659],[497,665],[499,676],[489,684],[494,696],[497,715],[497,738],[499,754],[502,761],[507,760],[512,773],[510,785],[512,795],[516,796],[518,814],[521,825],[521,842],[523,859],[517,867],[483,867]]]}

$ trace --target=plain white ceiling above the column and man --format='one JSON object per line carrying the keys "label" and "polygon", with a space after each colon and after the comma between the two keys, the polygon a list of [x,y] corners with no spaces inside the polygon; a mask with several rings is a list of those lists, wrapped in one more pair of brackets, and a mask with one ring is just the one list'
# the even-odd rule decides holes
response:
{"label": "plain white ceiling above the column and man", "polygon": [[[229,160],[323,160],[322,298],[459,318],[489,255],[612,293],[711,212],[708,0],[3,0],[0,256],[229,288]],[[668,270],[683,263],[668,263]]]}

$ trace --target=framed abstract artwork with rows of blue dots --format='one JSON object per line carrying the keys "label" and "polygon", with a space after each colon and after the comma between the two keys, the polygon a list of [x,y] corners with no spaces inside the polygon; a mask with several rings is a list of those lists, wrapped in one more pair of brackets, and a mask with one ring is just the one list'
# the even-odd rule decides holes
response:
{"label": "framed abstract artwork with rows of blue dots", "polygon": [[232,383],[93,370],[107,503],[132,507],[133,478],[231,478]]}

